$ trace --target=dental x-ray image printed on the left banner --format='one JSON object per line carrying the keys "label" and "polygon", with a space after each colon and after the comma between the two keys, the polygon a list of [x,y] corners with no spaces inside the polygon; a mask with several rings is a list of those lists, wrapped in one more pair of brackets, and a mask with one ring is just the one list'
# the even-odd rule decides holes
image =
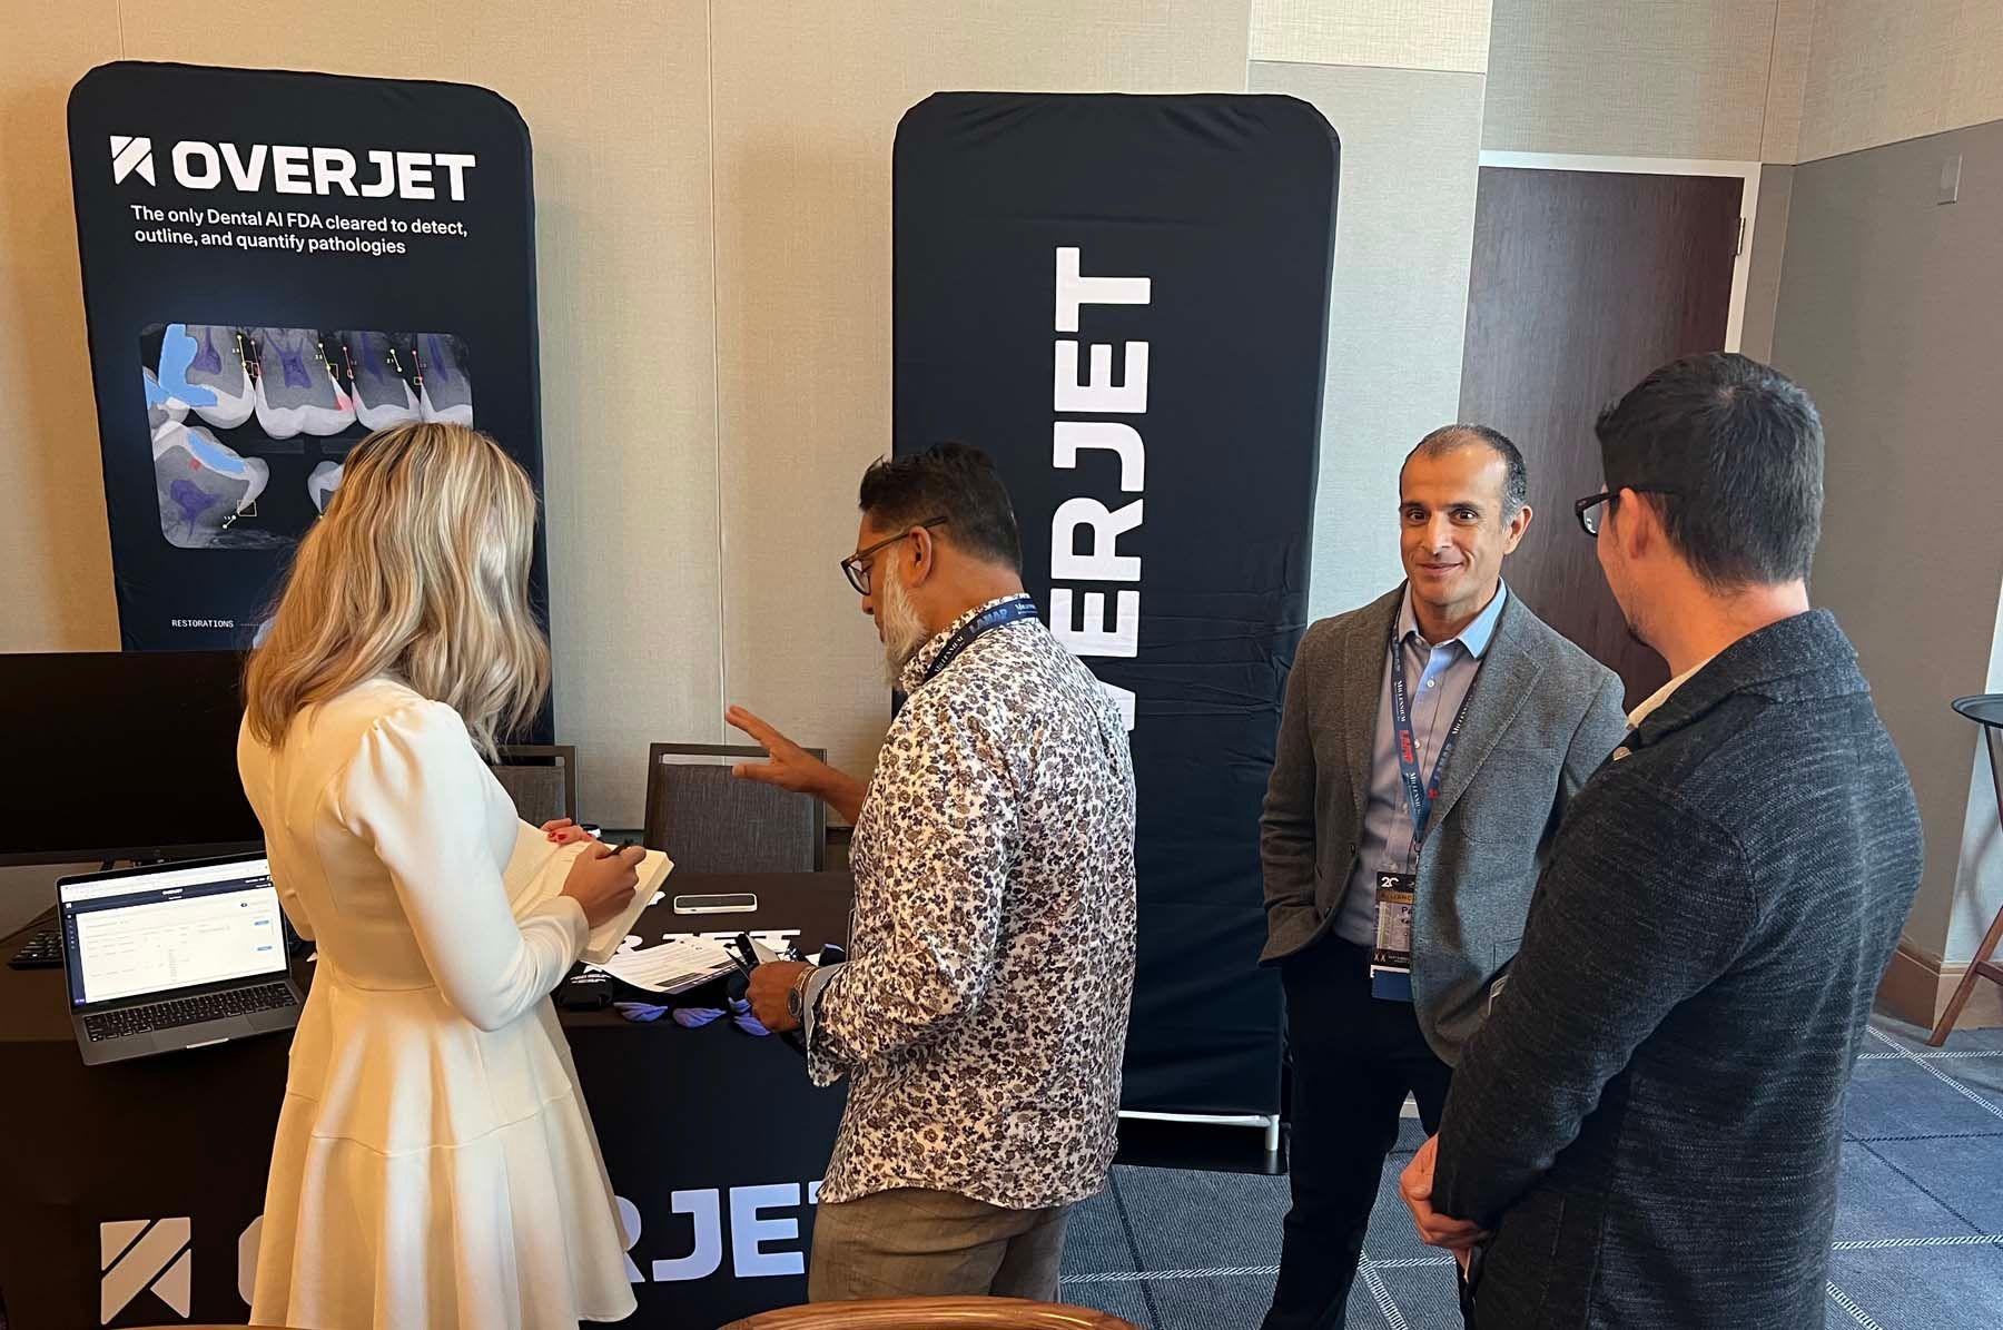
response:
{"label": "dental x-ray image printed on the left banner", "polygon": [[140,332],[140,377],[160,535],[178,549],[288,547],[371,431],[473,425],[451,332],[166,322]]}

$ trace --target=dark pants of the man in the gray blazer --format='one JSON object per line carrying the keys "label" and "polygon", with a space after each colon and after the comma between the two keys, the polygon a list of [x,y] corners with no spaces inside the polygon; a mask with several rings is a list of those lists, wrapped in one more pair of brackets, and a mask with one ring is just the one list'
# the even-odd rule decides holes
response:
{"label": "dark pants of the man in the gray blazer", "polygon": [[1288,957],[1280,977],[1294,1064],[1294,1206],[1264,1330],[1338,1330],[1404,1096],[1418,1100],[1430,1136],[1454,1072],[1426,1046],[1410,1002],[1370,995],[1370,947],[1326,937]]}

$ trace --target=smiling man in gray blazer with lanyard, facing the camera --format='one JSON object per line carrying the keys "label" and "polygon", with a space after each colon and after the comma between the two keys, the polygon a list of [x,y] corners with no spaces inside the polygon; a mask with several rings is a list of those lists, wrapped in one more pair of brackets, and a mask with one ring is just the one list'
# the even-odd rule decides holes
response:
{"label": "smiling man in gray blazer with lanyard, facing the camera", "polygon": [[1438,1130],[1558,817],[1622,733],[1620,681],[1502,587],[1532,517],[1516,447],[1448,425],[1398,491],[1406,585],[1302,637],[1260,817],[1294,1068],[1266,1330],[1344,1324],[1404,1098]]}

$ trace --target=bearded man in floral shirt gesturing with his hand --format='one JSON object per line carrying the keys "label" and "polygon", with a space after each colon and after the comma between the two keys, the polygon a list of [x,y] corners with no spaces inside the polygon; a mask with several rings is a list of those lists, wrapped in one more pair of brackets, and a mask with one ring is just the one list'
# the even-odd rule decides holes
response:
{"label": "bearded man in floral shirt gesturing with his hand", "polygon": [[849,961],[761,965],[849,1104],[815,1218],[815,1302],[1058,1292],[1106,1184],[1134,991],[1134,767],[1120,711],[1036,619],[993,463],[941,445],[863,475],[843,571],[907,695],[863,785],[755,715],[737,775],[855,823]]}

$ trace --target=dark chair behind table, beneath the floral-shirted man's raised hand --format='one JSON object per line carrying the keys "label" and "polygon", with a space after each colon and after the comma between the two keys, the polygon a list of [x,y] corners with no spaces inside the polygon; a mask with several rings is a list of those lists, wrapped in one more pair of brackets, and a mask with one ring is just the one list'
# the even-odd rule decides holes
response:
{"label": "dark chair behind table, beneath the floral-shirted man's raised hand", "polygon": [[[825,759],[823,749],[807,749]],[[821,801],[731,775],[765,749],[655,743],[647,749],[647,829],[685,873],[817,873],[825,849]]]}

